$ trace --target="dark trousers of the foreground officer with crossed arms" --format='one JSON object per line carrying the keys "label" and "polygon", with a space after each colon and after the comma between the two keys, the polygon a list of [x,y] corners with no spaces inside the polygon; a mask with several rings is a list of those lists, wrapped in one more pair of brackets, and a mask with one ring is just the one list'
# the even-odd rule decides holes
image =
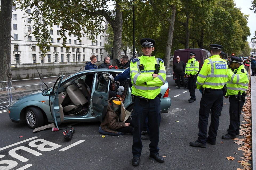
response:
{"label": "dark trousers of the foreground officer with crossed arms", "polygon": [[134,126],[132,153],[134,157],[140,157],[142,151],[141,131],[146,117],[148,117],[149,128],[149,152],[150,155],[158,154],[159,142],[159,126],[161,121],[160,99],[140,99],[138,96],[134,98],[132,121]]}

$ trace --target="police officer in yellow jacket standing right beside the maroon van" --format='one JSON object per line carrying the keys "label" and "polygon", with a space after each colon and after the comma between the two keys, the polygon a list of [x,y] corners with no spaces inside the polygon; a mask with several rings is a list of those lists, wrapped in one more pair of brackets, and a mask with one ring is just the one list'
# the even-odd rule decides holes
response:
{"label": "police officer in yellow jacket standing right beside the maroon van", "polygon": [[197,73],[199,71],[199,62],[195,60],[195,53],[190,52],[189,60],[186,64],[185,75],[187,78],[187,88],[189,89],[190,99],[189,103],[194,102],[195,99],[195,88],[196,88],[196,80]]}

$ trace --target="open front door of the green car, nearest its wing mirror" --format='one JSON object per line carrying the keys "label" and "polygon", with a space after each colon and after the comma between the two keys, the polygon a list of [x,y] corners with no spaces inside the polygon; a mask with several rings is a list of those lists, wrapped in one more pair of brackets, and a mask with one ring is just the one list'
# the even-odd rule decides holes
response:
{"label": "open front door of the green car, nearest its wing mirror", "polygon": [[59,129],[58,125],[61,124],[58,93],[59,93],[59,87],[61,85],[62,79],[63,79],[63,75],[60,75],[57,78],[56,82],[54,83],[53,88],[51,89],[50,96],[49,96],[49,105],[50,105],[51,116],[53,117],[55,125],[58,129]]}

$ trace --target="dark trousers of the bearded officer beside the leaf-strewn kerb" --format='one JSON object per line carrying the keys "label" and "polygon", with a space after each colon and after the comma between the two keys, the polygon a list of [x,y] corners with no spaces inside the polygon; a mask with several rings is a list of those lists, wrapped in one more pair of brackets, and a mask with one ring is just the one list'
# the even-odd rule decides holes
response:
{"label": "dark trousers of the bearded officer beside the leaf-strewn kerb", "polygon": [[[240,102],[240,108],[239,108]],[[229,129],[227,133],[232,136],[235,136],[239,132],[240,128],[240,115],[245,102],[235,100],[235,96],[229,96]]]}

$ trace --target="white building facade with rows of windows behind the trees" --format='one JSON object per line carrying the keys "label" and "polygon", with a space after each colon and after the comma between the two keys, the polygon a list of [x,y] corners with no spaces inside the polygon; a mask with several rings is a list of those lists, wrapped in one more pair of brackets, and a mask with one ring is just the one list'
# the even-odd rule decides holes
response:
{"label": "white building facade with rows of windows behind the trees", "polygon": [[[33,8],[28,8],[28,12],[32,12]],[[12,11],[12,26],[11,35],[11,64],[20,65],[26,63],[60,63],[60,62],[80,62],[85,63],[90,61],[90,57],[95,55],[98,61],[103,61],[107,56],[104,43],[105,35],[100,33],[96,42],[88,40],[87,37],[80,37],[81,41],[73,34],[67,36],[66,50],[62,46],[62,40],[57,40],[59,37],[60,25],[49,27],[51,36],[51,46],[46,56],[43,55],[35,37],[31,34],[33,30],[33,21],[29,18],[23,18],[26,15],[21,9],[13,7]],[[24,22],[25,20],[25,22]],[[30,26],[31,25],[31,26]]]}

